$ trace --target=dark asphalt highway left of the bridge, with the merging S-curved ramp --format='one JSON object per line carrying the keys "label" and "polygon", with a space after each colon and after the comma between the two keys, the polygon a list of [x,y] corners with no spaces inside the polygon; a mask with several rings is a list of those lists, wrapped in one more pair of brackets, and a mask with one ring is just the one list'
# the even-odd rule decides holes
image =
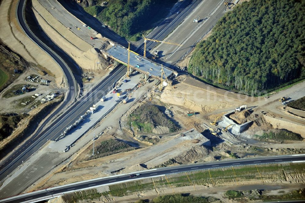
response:
{"label": "dark asphalt highway left of the bridge, with the merging S-curved ramp", "polygon": [[[67,79],[69,82],[70,91],[66,96],[65,102],[63,102],[56,111],[54,111],[44,122],[42,126],[33,134],[30,139],[26,142],[20,144],[20,147],[13,151],[9,156],[2,159],[0,162],[0,180],[1,182],[7,177],[14,169],[16,169],[22,161],[27,160],[34,152],[36,152],[40,147],[42,147],[47,140],[54,140],[56,137],[60,135],[63,129],[75,122],[75,118],[79,118],[85,111],[89,109],[94,103],[99,100],[102,95],[105,95],[109,91],[109,86],[112,86],[118,79],[120,79],[125,73],[126,68],[124,66],[120,66],[117,69],[113,70],[107,78],[102,80],[95,88],[93,88],[88,94],[81,97],[80,100],[77,100],[71,107],[68,112],[61,114],[60,116],[56,116],[60,114],[60,112],[66,108],[67,105],[77,96],[77,91],[74,87],[77,87],[73,74],[71,73],[69,67],[67,67],[66,63],[57,56],[51,49],[49,49],[45,44],[43,44],[34,34],[30,31],[27,24],[25,23],[23,10],[24,10],[25,0],[21,0],[18,5],[18,19],[20,25],[23,27],[24,31],[28,34],[28,36],[33,39],[35,43],[41,46],[47,53],[49,53],[67,75]],[[49,121],[56,118],[52,125],[46,125]],[[33,180],[34,181],[34,180]]]}

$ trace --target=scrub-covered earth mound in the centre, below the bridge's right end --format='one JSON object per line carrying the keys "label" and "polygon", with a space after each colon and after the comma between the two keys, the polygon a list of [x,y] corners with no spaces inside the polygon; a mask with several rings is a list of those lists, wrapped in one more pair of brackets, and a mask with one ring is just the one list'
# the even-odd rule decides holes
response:
{"label": "scrub-covered earth mound in the centre, below the bridge's right end", "polygon": [[170,121],[158,107],[151,104],[144,104],[132,112],[128,122],[142,132],[153,132],[157,126],[167,127],[170,132],[178,130],[178,126]]}

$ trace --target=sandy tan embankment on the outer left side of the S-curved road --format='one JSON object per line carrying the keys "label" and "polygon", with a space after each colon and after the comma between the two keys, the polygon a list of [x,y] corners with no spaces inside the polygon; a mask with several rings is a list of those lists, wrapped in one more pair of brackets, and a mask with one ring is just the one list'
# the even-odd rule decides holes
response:
{"label": "sandy tan embankment on the outer left side of the S-curved road", "polygon": [[13,51],[20,54],[25,60],[40,64],[55,75],[55,82],[60,85],[63,80],[63,71],[59,65],[44,51],[32,42],[20,29],[16,20],[17,0],[3,0],[0,6],[0,38]]}

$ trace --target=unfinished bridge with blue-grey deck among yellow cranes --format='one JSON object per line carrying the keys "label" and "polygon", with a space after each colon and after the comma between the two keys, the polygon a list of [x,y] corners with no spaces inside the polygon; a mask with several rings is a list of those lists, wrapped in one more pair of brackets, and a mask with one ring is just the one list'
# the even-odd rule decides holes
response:
{"label": "unfinished bridge with blue-grey deck among yellow cranes", "polygon": [[[121,45],[115,44],[108,50],[100,50],[103,56],[107,59],[108,57],[124,64],[127,66],[128,63],[128,49],[122,47]],[[172,85],[172,78],[178,75],[178,73],[170,68],[161,67],[161,64],[149,60],[139,54],[129,51],[129,67],[133,70],[139,71],[145,74],[145,76],[150,76],[156,78],[160,81],[166,82],[168,85]],[[163,74],[162,74],[163,69]],[[131,71],[130,71],[131,72]],[[162,75],[162,80],[161,80]]]}

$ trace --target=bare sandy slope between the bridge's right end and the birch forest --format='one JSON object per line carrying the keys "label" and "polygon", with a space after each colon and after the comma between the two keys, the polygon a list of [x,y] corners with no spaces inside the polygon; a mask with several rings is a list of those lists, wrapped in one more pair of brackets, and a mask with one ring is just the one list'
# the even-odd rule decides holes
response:
{"label": "bare sandy slope between the bridge's right end and the birch forest", "polygon": [[239,106],[245,101],[256,100],[253,97],[215,88],[190,76],[183,75],[180,78],[178,78],[180,83],[175,85],[176,88],[167,87],[161,94],[160,100],[162,102],[184,106],[199,113],[208,113]]}

